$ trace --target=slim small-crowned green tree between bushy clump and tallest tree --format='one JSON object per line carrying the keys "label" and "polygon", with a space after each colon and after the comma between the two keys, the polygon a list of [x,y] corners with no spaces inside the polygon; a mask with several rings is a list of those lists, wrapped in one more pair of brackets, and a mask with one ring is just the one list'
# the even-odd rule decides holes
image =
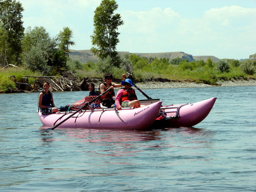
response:
{"label": "slim small-crowned green tree between bushy clump and tallest tree", "polygon": [[70,46],[75,45],[75,42],[71,39],[73,38],[73,32],[68,27],[64,27],[62,31],[58,34],[58,45],[60,50],[64,51],[69,58],[69,50]]}

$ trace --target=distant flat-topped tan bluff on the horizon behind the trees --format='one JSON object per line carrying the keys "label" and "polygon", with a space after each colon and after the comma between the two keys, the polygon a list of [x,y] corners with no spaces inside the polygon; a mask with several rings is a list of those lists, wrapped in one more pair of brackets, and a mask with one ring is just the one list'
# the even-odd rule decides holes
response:
{"label": "distant flat-topped tan bluff on the horizon behind the trees", "polygon": [[[122,56],[124,54],[136,54],[140,57],[146,57],[146,58],[169,58],[169,60],[172,60],[174,58],[182,58],[187,59],[188,61],[194,61],[194,60],[204,60],[206,61],[208,58],[211,58],[212,61],[217,62],[220,59],[216,58],[214,56],[192,56],[191,54],[187,54],[184,52],[165,52],[165,53],[130,53],[130,52],[124,52],[124,51],[118,51],[118,53]],[[81,63],[86,63],[88,61],[96,62],[98,58],[92,54],[90,50],[70,50],[69,56],[73,60],[78,60]]]}

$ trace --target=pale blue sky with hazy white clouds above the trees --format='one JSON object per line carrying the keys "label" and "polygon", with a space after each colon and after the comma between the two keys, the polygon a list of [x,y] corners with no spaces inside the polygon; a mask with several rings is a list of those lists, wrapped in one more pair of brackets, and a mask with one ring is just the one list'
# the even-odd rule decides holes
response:
{"label": "pale blue sky with hazy white clouds above the trees", "polygon": [[[52,37],[73,32],[73,50],[92,47],[94,11],[101,0],[19,0],[23,26],[43,26]],[[117,51],[185,52],[245,59],[256,53],[256,0],[116,0],[124,24]]]}

